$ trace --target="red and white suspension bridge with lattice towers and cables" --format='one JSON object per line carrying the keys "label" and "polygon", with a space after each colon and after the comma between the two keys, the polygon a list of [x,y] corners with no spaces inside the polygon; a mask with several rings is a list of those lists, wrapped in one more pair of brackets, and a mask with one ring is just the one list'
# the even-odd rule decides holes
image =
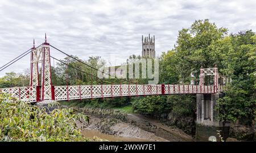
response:
{"label": "red and white suspension bridge with lattice towers and cables", "polygon": [[[1,88],[0,93],[9,93],[11,96],[18,98],[24,102],[41,102],[45,100],[54,101],[68,101],[68,100],[82,100],[89,98],[108,98],[108,97],[125,97],[125,96],[150,96],[150,95],[166,95],[166,94],[214,94],[220,92],[218,85],[218,68],[201,68],[199,85],[180,85],[180,84],[137,84],[128,81],[126,84],[98,84],[98,85],[53,85],[51,75],[51,59],[55,59],[67,67],[72,67],[77,71],[86,73],[79,68],[73,67],[68,63],[52,57],[50,48],[73,58],[79,63],[85,64],[90,69],[98,69],[76,59],[71,55],[61,51],[60,49],[50,45],[45,36],[45,42],[38,47],[34,46],[28,51],[22,53],[14,60],[3,65],[0,71],[8,68],[10,65],[16,63],[22,57],[30,54],[30,85],[16,86],[13,88]],[[39,65],[41,64],[41,71],[39,75]],[[104,72],[102,72],[104,73]],[[91,78],[96,77],[92,73],[86,73]],[[108,73],[109,75],[109,73]],[[39,76],[40,82],[39,82]],[[213,76],[213,85],[205,85],[205,76]],[[99,79],[99,78],[97,78]],[[127,82],[127,81],[126,81]]]}

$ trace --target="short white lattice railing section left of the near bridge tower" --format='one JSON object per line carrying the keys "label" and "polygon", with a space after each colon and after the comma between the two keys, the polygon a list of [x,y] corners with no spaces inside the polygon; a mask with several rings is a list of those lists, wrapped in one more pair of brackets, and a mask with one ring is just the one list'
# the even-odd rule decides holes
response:
{"label": "short white lattice railing section left of the near bridge tower", "polygon": [[18,98],[24,102],[36,102],[36,88],[30,86],[14,87],[14,88],[2,88],[0,93],[8,93],[12,97]]}

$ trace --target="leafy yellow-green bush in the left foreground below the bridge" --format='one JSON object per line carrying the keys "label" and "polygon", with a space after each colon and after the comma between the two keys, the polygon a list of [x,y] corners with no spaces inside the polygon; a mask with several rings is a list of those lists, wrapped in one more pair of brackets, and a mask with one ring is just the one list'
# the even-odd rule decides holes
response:
{"label": "leafy yellow-green bush in the left foreground below the bridge", "polygon": [[46,108],[27,104],[0,94],[0,141],[88,141],[81,136],[76,121],[89,121],[72,109]]}

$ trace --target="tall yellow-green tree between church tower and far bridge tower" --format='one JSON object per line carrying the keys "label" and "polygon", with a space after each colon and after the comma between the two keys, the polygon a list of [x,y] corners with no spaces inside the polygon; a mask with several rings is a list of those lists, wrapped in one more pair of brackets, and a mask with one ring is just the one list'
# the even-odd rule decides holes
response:
{"label": "tall yellow-green tree between church tower and far bridge tower", "polygon": [[210,46],[217,40],[227,35],[226,28],[217,28],[216,24],[208,19],[196,20],[190,28],[183,28],[175,44],[174,51],[177,53],[176,67],[180,81],[189,83],[191,73],[199,78],[200,67],[214,67],[218,63],[212,57]]}

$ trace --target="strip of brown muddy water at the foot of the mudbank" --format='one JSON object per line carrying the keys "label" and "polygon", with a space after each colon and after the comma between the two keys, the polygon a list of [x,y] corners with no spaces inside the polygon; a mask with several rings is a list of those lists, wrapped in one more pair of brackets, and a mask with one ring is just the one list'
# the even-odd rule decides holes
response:
{"label": "strip of brown muddy water at the foot of the mudbank", "polygon": [[110,135],[110,134],[104,134],[101,133],[100,131],[96,130],[88,130],[88,129],[82,129],[81,131],[82,135],[87,138],[92,138],[94,136],[101,138],[101,139],[106,139],[109,141],[123,141],[123,142],[148,142],[149,140],[146,139],[139,139],[139,138],[130,138],[130,137],[120,137],[117,135]]}

